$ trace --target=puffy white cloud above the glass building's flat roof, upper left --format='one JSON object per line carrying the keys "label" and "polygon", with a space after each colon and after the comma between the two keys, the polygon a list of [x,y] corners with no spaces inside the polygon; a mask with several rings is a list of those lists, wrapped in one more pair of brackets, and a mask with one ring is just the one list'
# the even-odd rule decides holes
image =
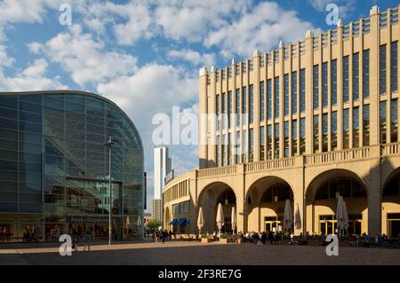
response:
{"label": "puffy white cloud above the glass building's flat roof, upper left", "polygon": [[30,51],[42,51],[52,62],[60,64],[80,86],[104,83],[109,79],[132,73],[137,59],[132,55],[106,51],[105,44],[84,34],[78,25],[53,37],[40,48],[29,44]]}

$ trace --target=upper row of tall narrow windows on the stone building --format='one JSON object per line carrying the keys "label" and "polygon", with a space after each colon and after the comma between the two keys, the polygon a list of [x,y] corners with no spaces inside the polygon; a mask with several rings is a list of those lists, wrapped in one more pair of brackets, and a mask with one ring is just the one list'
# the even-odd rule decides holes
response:
{"label": "upper row of tall narrow windows on the stone building", "polygon": [[[387,44],[380,46],[380,95],[387,94]],[[362,52],[363,56],[360,58],[360,53],[354,53],[352,56],[352,78],[349,77],[349,56],[345,56],[342,60],[343,70],[343,90],[342,101],[348,103],[350,94],[352,100],[356,101],[360,98],[360,92],[364,99],[370,97],[370,51]],[[360,61],[362,61],[360,69]],[[398,72],[397,72],[397,42],[390,43],[390,91],[396,92],[398,90]],[[322,104],[323,107],[328,106],[328,68],[331,68],[331,106],[338,104],[338,60],[331,61],[330,66],[328,62],[322,65],[313,67],[313,109],[316,110]],[[320,72],[322,72],[322,80],[320,80]],[[290,78],[291,77],[291,78]],[[363,84],[360,88],[360,77],[363,77]],[[292,82],[292,83],[291,83]],[[260,122],[268,120],[273,117],[280,116],[280,101],[279,101],[279,83],[280,77],[273,80],[268,79],[267,83],[260,82]],[[299,85],[298,85],[299,84]],[[350,89],[351,85],[351,89]],[[305,69],[297,71],[292,74],[284,75],[284,116],[290,114],[304,113],[306,111],[306,75]],[[360,90],[361,89],[361,90]],[[267,90],[267,91],[266,91]],[[292,91],[290,91],[292,90]],[[350,92],[350,90],[352,90]],[[291,94],[292,92],[292,94]],[[221,98],[220,98],[221,97]],[[247,102],[247,98],[249,101]],[[227,105],[228,99],[228,105]],[[249,123],[254,122],[254,86],[249,86],[249,95],[247,95],[247,87],[236,89],[236,114],[247,114],[247,106],[249,106],[250,113],[248,115]],[[228,91],[228,98],[226,93],[216,95],[216,113],[228,114],[228,119],[221,119],[217,123],[217,130],[231,128],[233,121],[230,114],[232,114],[233,107],[233,93]],[[299,109],[300,108],[300,109]],[[240,126],[240,117],[236,116],[236,127]]]}

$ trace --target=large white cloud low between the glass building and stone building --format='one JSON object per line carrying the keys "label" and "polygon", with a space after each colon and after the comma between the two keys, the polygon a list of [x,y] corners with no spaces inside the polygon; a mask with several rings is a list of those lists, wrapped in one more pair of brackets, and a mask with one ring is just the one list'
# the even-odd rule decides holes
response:
{"label": "large white cloud low between the glass building and stone building", "polygon": [[[170,115],[172,106],[197,98],[198,79],[185,70],[155,63],[141,67],[134,75],[124,75],[109,83],[100,83],[97,91],[124,109],[138,127],[143,141],[146,166],[152,171],[152,124],[155,114]],[[180,147],[180,150],[183,150]],[[151,172],[150,172],[151,173]]]}

